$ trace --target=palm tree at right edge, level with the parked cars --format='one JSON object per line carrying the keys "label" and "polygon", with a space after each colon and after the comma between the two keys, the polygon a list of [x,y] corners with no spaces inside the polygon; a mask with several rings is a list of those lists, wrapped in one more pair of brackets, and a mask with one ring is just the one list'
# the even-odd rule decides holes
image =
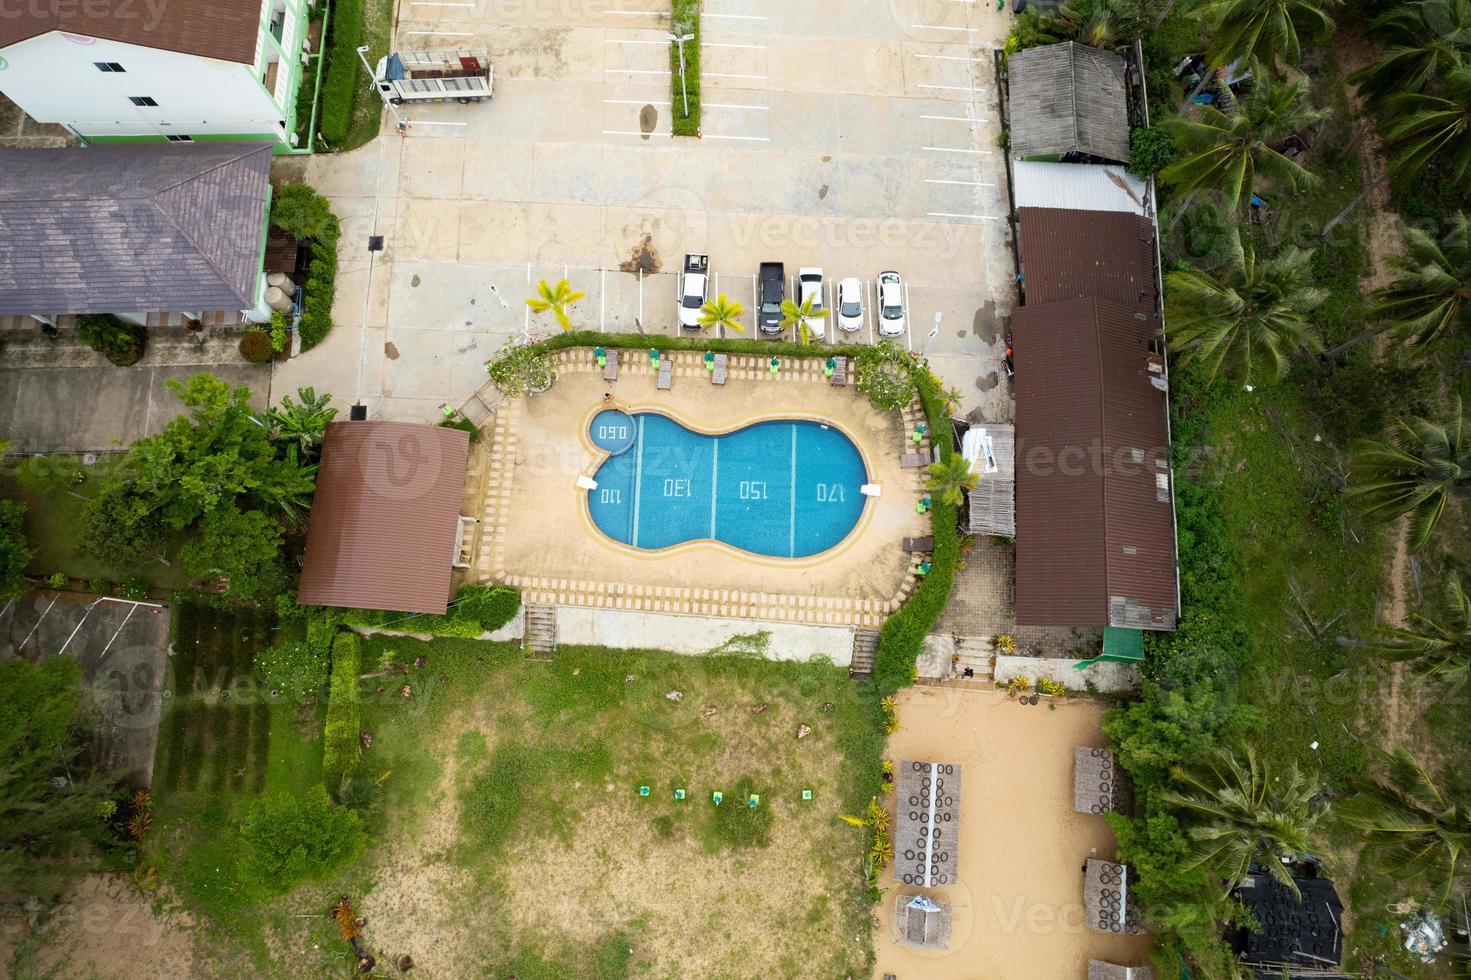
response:
{"label": "palm tree at right edge, level with the parked cars", "polygon": [[1395,259],[1399,277],[1374,294],[1370,315],[1417,347],[1471,324],[1471,219],[1453,216],[1440,241],[1406,228],[1405,252]]}

